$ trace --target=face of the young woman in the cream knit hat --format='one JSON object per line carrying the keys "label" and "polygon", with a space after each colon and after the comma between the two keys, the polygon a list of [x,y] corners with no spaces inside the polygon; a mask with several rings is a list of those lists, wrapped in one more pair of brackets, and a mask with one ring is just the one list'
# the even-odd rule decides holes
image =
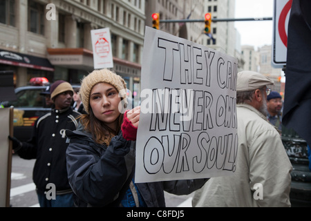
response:
{"label": "face of the young woman in the cream knit hat", "polygon": [[90,106],[95,117],[113,130],[116,129],[116,119],[120,116],[120,102],[119,93],[111,84],[96,84],[91,90]]}

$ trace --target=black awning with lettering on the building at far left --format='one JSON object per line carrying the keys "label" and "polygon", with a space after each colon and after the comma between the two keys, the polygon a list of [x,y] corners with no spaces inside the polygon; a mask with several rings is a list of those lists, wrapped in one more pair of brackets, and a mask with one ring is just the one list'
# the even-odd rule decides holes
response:
{"label": "black awning with lettering on the building at far left", "polygon": [[54,71],[54,67],[48,59],[35,57],[32,55],[24,55],[8,50],[0,50],[0,64],[8,64],[12,66],[21,66],[25,68],[33,68],[39,70]]}

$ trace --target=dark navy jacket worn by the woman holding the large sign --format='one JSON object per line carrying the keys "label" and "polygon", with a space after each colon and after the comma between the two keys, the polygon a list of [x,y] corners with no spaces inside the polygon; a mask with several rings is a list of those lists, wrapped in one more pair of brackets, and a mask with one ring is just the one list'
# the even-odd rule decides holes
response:
{"label": "dark navy jacket worn by the woman holding the large sign", "polygon": [[[75,193],[76,206],[120,206],[135,171],[135,142],[122,132],[109,146],[96,144],[92,136],[79,128],[66,131],[70,144],[66,151],[68,180]],[[149,207],[164,207],[164,191],[188,195],[200,189],[208,179],[179,180],[137,184]]]}

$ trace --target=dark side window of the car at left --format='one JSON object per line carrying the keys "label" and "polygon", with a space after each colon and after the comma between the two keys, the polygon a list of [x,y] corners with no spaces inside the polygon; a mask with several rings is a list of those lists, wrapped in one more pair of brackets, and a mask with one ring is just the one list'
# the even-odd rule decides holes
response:
{"label": "dark side window of the car at left", "polygon": [[41,89],[38,90],[21,90],[17,95],[17,100],[10,102],[9,106],[15,106],[16,108],[32,108],[43,107],[44,96],[40,95]]}

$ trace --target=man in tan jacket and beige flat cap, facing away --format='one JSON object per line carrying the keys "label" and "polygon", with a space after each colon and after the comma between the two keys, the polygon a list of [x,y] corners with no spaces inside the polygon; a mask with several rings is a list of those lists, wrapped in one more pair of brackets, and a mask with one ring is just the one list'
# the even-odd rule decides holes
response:
{"label": "man in tan jacket and beige flat cap, facing away", "polygon": [[193,206],[290,206],[292,164],[276,128],[267,122],[271,79],[238,73],[236,172],[211,178],[196,191]]}

